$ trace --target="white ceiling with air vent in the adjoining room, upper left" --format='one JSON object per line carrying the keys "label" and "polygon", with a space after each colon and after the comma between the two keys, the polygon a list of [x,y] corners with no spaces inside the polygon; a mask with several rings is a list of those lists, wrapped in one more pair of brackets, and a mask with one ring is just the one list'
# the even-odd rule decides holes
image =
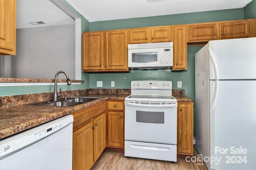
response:
{"label": "white ceiling with air vent in the adjoining room, upper left", "polygon": [[[63,12],[51,0],[17,0],[16,28],[31,28],[75,24],[75,20]],[[28,22],[43,21],[46,24],[32,25]]]}

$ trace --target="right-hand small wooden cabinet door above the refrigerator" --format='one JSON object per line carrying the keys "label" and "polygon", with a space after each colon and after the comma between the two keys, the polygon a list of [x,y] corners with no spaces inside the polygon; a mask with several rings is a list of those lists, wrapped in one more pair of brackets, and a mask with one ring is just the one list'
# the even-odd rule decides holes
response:
{"label": "right-hand small wooden cabinet door above the refrigerator", "polygon": [[220,23],[220,32],[221,39],[250,37],[250,21]]}

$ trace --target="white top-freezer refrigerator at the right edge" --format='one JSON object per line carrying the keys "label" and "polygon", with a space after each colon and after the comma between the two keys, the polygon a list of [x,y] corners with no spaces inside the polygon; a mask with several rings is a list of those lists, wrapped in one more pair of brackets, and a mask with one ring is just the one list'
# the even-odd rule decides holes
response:
{"label": "white top-freezer refrigerator at the right edge", "polygon": [[208,169],[256,169],[256,38],[210,41],[195,54],[195,131]]}

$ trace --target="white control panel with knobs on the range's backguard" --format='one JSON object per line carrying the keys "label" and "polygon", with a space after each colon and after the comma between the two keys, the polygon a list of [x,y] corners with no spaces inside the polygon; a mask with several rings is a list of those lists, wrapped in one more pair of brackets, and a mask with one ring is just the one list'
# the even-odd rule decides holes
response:
{"label": "white control panel with knobs on the range's backguard", "polygon": [[172,89],[172,81],[132,81],[131,89]]}

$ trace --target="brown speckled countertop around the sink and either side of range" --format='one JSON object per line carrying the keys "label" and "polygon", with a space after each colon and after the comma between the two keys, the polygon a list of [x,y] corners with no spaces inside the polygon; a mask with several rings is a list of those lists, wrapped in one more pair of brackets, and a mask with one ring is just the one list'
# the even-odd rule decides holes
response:
{"label": "brown speckled countertop around the sink and either side of range", "polygon": [[[79,111],[96,103],[106,100],[124,100],[129,94],[93,94],[88,93],[86,97],[100,97],[94,101],[83,103],[73,107],[33,106],[17,105],[0,109],[0,140],[24,130],[36,127],[43,123],[58,119],[75,111]],[[185,95],[173,95],[178,102],[193,102],[194,99]],[[27,104],[27,103],[25,103]]]}

